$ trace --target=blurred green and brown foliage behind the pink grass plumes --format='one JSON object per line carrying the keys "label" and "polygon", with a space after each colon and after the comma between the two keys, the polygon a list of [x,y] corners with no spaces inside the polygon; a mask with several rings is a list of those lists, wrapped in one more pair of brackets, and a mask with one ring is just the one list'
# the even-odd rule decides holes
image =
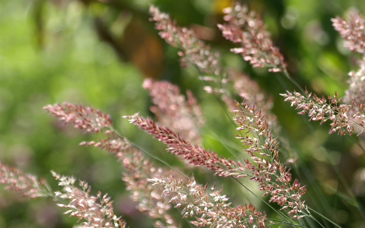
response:
{"label": "blurred green and brown foliage behind the pink grass plumes", "polygon": [[[360,57],[343,47],[330,19],[346,16],[349,8],[364,13],[364,0],[242,2],[262,15],[288,62],[289,73],[300,85],[320,95],[337,91],[343,96],[347,73],[357,69],[356,60]],[[328,164],[323,152],[326,149],[335,169],[341,171],[349,188],[364,204],[364,152],[348,137],[328,135],[328,124],[310,123],[310,132],[306,121],[278,96],[296,89],[289,81],[266,69],[253,69],[240,56],[230,53],[229,48],[234,45],[222,38],[216,27],[223,23],[221,11],[232,4],[230,0],[1,0],[1,161],[45,177],[55,188],[51,169],[85,180],[93,186],[94,193],[100,190],[115,200],[115,213],[122,215],[130,227],[147,228],[151,221],[135,209],[128,197],[120,180],[122,168],[114,157],[78,146],[96,136],[62,125],[43,111],[44,105],[67,101],[100,108],[111,115],[123,135],[173,163],[174,158],[166,155],[164,145],[121,118],[135,112],[142,116],[152,114],[148,92],[141,86],[144,78],[168,80],[183,91],[191,89],[200,101],[207,129],[203,131],[204,147],[228,156],[220,141],[228,139],[239,145],[218,101],[202,91],[204,84],[193,69],[181,69],[177,49],[167,45],[154,30],[154,23],[148,20],[150,4],[201,34],[222,52],[224,64],[257,80],[273,96],[274,112],[314,179],[343,189]],[[209,115],[212,112],[216,115]],[[207,136],[213,130],[220,132],[217,139]],[[364,146],[364,141],[360,143]],[[299,170],[298,175],[303,173]],[[252,187],[255,189],[255,183]],[[326,193],[322,200],[328,202],[323,203],[328,209],[326,215],[335,217],[343,227],[365,227],[356,208],[328,189],[321,189]],[[244,198],[238,196],[242,192],[237,192],[234,198],[244,204]],[[3,189],[0,193],[0,227],[73,227],[77,221],[62,215],[64,210],[51,199],[28,200]],[[255,202],[250,196],[246,198]]]}

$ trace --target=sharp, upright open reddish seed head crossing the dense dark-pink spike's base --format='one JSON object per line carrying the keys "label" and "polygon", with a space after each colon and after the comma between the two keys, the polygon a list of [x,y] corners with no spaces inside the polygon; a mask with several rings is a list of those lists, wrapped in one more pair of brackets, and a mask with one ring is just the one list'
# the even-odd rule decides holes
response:
{"label": "sharp, upright open reddish seed head crossing the dense dark-pink spike's base", "polygon": [[245,103],[241,109],[234,111],[245,113],[244,116],[234,117],[240,125],[237,130],[243,131],[236,138],[248,146],[246,151],[251,159],[245,159],[244,166],[249,170],[250,179],[259,183],[259,189],[265,191],[264,195],[271,195],[270,202],[277,202],[282,206],[281,209],[291,208],[288,213],[295,214],[293,218],[309,215],[307,205],[301,200],[301,196],[306,193],[306,187],[301,186],[297,179],[291,183],[290,169],[280,162],[278,142],[272,137],[261,111],[255,111],[254,107]]}

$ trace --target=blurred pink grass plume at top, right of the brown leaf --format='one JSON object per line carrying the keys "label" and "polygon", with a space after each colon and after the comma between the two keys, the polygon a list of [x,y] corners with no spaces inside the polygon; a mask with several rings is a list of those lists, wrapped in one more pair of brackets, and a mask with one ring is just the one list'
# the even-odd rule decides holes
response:
{"label": "blurred pink grass plume at top, right of the brown leaf", "polygon": [[241,44],[241,47],[231,51],[242,54],[243,59],[253,67],[269,67],[269,71],[273,72],[287,71],[283,55],[273,45],[264,23],[254,11],[236,4],[223,12],[226,13],[224,20],[228,24],[219,24],[218,27],[224,38]]}

